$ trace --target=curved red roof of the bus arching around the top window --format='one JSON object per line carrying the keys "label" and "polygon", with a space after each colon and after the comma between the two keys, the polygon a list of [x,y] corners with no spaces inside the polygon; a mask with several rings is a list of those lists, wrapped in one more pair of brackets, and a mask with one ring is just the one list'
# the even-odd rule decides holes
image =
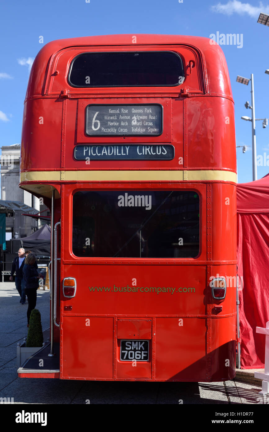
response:
{"label": "curved red roof of the bus arching around the top window", "polygon": [[[134,36],[136,37],[136,44],[132,42]],[[212,44],[210,38],[182,35],[127,34],[58,39],[47,43],[34,59],[26,99],[33,95],[42,95],[49,60],[59,51],[65,48],[87,48],[91,46],[115,46],[119,48],[129,46],[134,48],[134,45],[138,49],[143,45],[182,45],[185,48],[190,47],[198,50],[202,57],[204,73],[208,82],[208,92],[232,98],[225,56],[220,46]]]}

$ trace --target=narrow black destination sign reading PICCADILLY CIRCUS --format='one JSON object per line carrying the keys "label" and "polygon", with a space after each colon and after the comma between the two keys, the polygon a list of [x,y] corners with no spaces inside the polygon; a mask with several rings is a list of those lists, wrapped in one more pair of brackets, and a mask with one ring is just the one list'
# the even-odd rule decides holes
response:
{"label": "narrow black destination sign reading PICCADILLY CIRCUS", "polygon": [[175,147],[171,144],[113,144],[75,146],[76,160],[172,160]]}

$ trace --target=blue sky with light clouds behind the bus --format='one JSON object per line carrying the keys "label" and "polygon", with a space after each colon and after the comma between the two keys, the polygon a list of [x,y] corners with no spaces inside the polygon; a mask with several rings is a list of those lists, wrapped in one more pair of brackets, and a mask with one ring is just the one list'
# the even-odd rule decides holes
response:
{"label": "blue sky with light clouds behind the bus", "polygon": [[[254,74],[256,118],[269,118],[269,27],[257,23],[260,12],[269,14],[269,3],[244,0],[13,0],[0,6],[0,146],[20,143],[23,101],[31,62],[54,39],[121,33],[155,33],[210,37],[217,32],[243,35],[243,46],[221,45],[228,64],[235,100],[238,182],[252,181],[251,117],[244,107],[251,102],[248,86],[236,76]],[[242,36],[239,36],[242,42]],[[256,122],[257,155],[269,159],[269,126]],[[269,165],[269,160],[268,160]],[[258,178],[269,166],[258,166]]]}

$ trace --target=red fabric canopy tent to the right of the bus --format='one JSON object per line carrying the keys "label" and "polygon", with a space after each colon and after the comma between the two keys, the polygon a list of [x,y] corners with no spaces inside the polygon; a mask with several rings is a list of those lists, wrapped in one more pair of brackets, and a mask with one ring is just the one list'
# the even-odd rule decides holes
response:
{"label": "red fabric canopy tent to the right of the bus", "polygon": [[241,368],[264,368],[265,337],[256,327],[269,321],[269,174],[237,185],[237,259]]}

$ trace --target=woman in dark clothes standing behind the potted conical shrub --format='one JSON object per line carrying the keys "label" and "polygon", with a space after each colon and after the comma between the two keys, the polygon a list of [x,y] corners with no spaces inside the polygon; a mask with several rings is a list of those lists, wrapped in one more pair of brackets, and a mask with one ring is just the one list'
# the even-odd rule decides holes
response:
{"label": "woman in dark clothes standing behind the potted conical shrub", "polygon": [[23,266],[23,279],[25,286],[25,294],[28,297],[28,310],[27,310],[27,327],[29,327],[31,311],[35,308],[38,289],[38,270],[35,267],[34,254],[28,254],[25,258]]}

